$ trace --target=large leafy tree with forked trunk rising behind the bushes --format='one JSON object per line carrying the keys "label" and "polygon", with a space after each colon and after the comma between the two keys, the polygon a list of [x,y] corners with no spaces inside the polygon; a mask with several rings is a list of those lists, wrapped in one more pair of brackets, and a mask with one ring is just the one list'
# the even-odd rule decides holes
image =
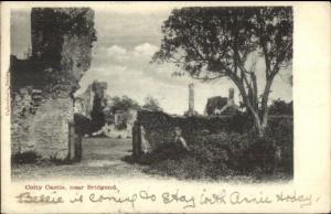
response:
{"label": "large leafy tree with forked trunk rising behind the bushes", "polygon": [[[263,137],[268,121],[268,98],[275,76],[291,63],[290,7],[174,9],[162,25],[163,39],[153,62],[174,63],[203,82],[227,77]],[[258,94],[253,56],[265,61],[263,93]]]}

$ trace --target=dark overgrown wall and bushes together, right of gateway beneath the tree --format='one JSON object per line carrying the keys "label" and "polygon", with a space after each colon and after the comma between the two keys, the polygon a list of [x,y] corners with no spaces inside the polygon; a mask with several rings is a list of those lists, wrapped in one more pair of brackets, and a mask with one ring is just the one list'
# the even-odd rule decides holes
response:
{"label": "dark overgrown wall and bushes together, right of gateway beneath the tree", "polygon": [[[278,172],[292,176],[292,117],[270,117],[263,139],[250,130],[250,117],[243,113],[233,117],[171,117],[141,110],[138,120],[153,150],[136,161],[147,164],[149,173],[181,179],[264,178]],[[189,152],[173,145],[175,126],[183,130]]]}

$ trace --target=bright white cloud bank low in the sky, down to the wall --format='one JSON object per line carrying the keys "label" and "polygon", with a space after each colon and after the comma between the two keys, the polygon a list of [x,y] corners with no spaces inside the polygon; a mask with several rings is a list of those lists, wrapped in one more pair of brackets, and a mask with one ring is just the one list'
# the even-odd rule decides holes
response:
{"label": "bright white cloud bank low in the sky, down to the wall", "polygon": [[[209,97],[227,96],[229,87],[235,88],[236,103],[239,100],[238,90],[226,78],[203,84],[189,76],[173,77],[171,74],[178,69],[173,64],[150,63],[151,56],[159,49],[150,42],[138,43],[132,47],[98,43],[94,49],[92,67],[81,81],[81,92],[94,79],[104,81],[108,84],[107,94],[110,96],[127,95],[143,104],[145,97],[151,95],[171,114],[182,114],[186,110],[190,83],[194,83],[195,86],[195,108],[199,113],[203,113]],[[259,65],[257,67],[259,68]],[[285,88],[281,83],[278,85]],[[290,88],[281,88],[275,89],[270,98],[278,97],[280,93],[286,97]]]}

